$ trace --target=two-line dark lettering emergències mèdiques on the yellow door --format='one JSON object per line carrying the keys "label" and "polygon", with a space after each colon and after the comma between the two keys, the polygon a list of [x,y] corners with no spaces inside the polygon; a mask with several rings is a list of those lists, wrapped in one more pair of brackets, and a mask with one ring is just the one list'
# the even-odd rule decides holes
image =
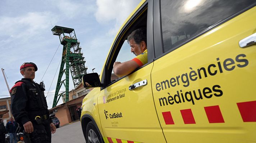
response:
{"label": "two-line dark lettering emerg\u00e8ncies m\u00e8diques on the yellow door", "polygon": [[[243,68],[243,67],[247,66],[249,63],[249,61],[247,59],[241,59],[241,57],[246,57],[246,55],[239,54],[236,56],[236,61],[238,62],[238,64],[236,64],[236,65],[239,68]],[[215,64],[210,64],[207,68],[208,73],[212,76],[216,75],[218,73],[218,70],[219,70],[219,73],[223,73],[219,58],[217,58],[217,61],[218,61],[217,62],[218,68],[216,68],[213,72],[212,72],[211,68],[212,67],[215,68],[216,67]],[[228,59],[224,60],[223,67],[225,70],[231,71],[235,68],[234,64],[235,64],[234,60],[231,58],[228,58]],[[192,68],[189,68],[189,69],[192,70]],[[156,90],[160,91],[160,90],[170,88],[170,85],[172,87],[175,87],[176,85],[180,85],[179,79],[181,79],[181,81],[183,83],[183,87],[188,87],[189,79],[191,81],[196,81],[197,79],[202,78],[201,73],[200,73],[201,70],[204,71],[204,76],[206,78],[207,77],[206,69],[204,67],[202,67],[202,68],[197,69],[197,72],[195,70],[192,70],[189,74],[185,73],[185,74],[182,74],[181,76],[178,75],[178,76],[176,76],[176,78],[170,78],[170,80],[165,80],[165,81],[161,82],[161,84],[156,83]],[[189,75],[189,78],[188,78],[188,75]],[[187,101],[187,102],[192,102],[192,104],[194,105],[195,104],[194,99],[201,100],[203,98],[212,98],[214,96],[215,97],[222,96],[223,91],[220,88],[221,88],[220,85],[213,85],[212,88],[205,87],[203,89],[196,89],[196,90],[185,91],[185,92],[182,92],[182,90],[178,90],[178,91],[176,91],[176,93],[174,93],[174,95],[171,95],[168,92],[168,97],[159,98],[159,103],[160,103],[160,106],[162,106],[162,105],[165,106],[165,105],[168,105],[168,103],[170,105],[172,105],[174,103],[179,104],[179,103],[182,103],[182,102],[184,103]]]}

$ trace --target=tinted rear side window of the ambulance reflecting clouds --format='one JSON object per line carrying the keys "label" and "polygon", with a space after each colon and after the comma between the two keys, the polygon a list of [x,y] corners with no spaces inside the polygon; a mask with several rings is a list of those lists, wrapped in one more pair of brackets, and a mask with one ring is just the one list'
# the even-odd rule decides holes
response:
{"label": "tinted rear side window of the ambulance reflecting clouds", "polygon": [[256,0],[161,0],[164,52],[174,50]]}

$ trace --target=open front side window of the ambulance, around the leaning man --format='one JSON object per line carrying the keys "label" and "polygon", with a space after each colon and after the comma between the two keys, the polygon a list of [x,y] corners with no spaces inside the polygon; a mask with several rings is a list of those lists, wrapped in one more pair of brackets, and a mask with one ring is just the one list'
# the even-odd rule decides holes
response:
{"label": "open front side window of the ambulance, around the leaning man", "polygon": [[[147,27],[147,4],[142,6],[141,10],[136,15],[134,15],[133,18],[131,18],[126,25],[123,26],[122,31],[119,33],[118,37],[116,38],[114,46],[110,51],[109,60],[107,61],[107,66],[105,71],[106,85],[113,84],[116,80],[120,80],[126,77],[126,75],[124,75],[123,77],[117,77],[114,75],[114,72],[113,72],[114,62],[124,63],[125,61],[132,60],[133,58],[136,57],[136,55],[134,55],[131,52],[131,46],[127,42],[127,37],[132,33],[132,31],[140,28],[146,28],[146,27]],[[134,71],[136,71],[137,69],[135,69]]]}

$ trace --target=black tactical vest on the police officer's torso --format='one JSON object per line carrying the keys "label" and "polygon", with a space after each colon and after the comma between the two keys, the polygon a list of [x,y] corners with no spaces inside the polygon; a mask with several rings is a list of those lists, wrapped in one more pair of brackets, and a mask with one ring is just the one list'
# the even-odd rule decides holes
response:
{"label": "black tactical vest on the police officer's torso", "polygon": [[35,82],[30,82],[28,80],[19,80],[18,82],[23,82],[26,85],[26,94],[28,98],[26,105],[27,112],[42,109],[48,110],[44,92],[40,89],[39,84]]}

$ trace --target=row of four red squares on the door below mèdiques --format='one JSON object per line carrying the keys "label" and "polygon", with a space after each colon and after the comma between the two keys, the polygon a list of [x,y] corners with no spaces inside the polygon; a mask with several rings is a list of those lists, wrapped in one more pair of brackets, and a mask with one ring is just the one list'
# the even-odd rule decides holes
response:
{"label": "row of four red squares on the door below m\u00e8diques", "polygon": [[[256,122],[256,101],[237,103],[243,122]],[[219,105],[204,107],[209,123],[224,123]],[[180,110],[184,124],[196,124],[191,109]],[[170,111],[162,112],[166,125],[174,124]]]}

